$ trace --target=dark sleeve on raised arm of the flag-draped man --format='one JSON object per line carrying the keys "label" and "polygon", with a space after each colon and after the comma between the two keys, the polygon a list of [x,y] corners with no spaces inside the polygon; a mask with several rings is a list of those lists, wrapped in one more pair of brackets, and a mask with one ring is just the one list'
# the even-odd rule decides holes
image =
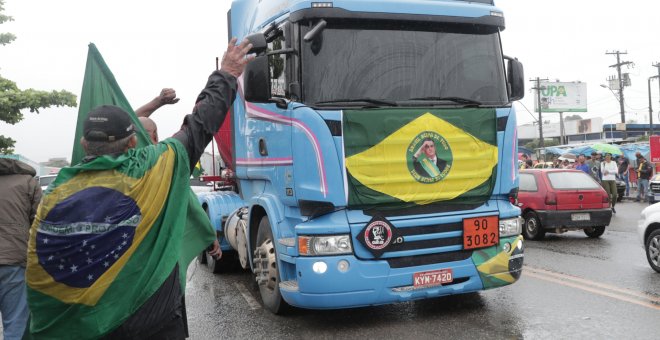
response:
{"label": "dark sleeve on raised arm of the flag-draped man", "polygon": [[190,159],[190,171],[195,168],[204,149],[218,132],[225,115],[236,98],[236,77],[215,71],[206,88],[197,97],[193,113],[186,116],[174,138],[183,143]]}

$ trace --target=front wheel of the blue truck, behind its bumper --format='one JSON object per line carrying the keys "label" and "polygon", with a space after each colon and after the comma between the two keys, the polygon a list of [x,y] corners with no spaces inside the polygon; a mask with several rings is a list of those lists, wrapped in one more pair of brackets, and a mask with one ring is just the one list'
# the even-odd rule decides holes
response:
{"label": "front wheel of the blue truck, behind its bumper", "polygon": [[[268,216],[261,218],[257,231],[257,249],[254,254],[255,280],[259,283],[259,293],[264,307],[273,314],[282,314],[288,304],[280,292],[280,271],[277,262],[277,250],[273,242]],[[261,271],[261,275],[258,271]],[[261,277],[261,282],[260,282]]]}

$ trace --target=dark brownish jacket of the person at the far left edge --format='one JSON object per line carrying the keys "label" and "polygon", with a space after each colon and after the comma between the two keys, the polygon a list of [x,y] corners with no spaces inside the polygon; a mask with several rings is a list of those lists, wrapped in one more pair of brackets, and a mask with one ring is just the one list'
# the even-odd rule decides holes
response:
{"label": "dark brownish jacket of the person at the far left edge", "polygon": [[34,169],[0,158],[0,265],[25,266],[30,224],[41,199]]}

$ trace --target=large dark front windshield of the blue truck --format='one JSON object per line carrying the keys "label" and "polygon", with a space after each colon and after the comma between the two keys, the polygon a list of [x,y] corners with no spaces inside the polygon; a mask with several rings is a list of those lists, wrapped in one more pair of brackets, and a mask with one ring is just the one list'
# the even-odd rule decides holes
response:
{"label": "large dark front windshield of the blue truck", "polygon": [[302,44],[308,105],[361,99],[399,105],[508,102],[497,28],[328,21],[316,39]]}

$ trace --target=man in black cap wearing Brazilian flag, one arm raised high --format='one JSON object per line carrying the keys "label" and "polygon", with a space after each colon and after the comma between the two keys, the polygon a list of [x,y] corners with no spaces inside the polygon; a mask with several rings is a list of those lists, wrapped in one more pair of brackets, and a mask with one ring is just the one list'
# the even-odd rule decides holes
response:
{"label": "man in black cap wearing Brazilian flag, one arm raised high", "polygon": [[186,269],[216,240],[189,176],[236,97],[251,47],[229,42],[193,113],[158,144],[136,148],[137,118],[117,106],[79,117],[85,156],[60,171],[30,232],[33,338],[187,336]]}

